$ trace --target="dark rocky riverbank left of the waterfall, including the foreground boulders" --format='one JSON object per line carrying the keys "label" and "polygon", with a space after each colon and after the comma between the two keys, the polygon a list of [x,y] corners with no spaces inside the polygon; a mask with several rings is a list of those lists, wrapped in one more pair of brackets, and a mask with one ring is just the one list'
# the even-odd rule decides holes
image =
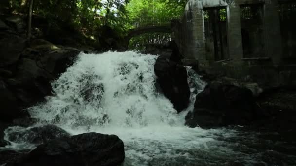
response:
{"label": "dark rocky riverbank left of the waterfall, including the foreground boulders", "polygon": [[[32,28],[32,40],[28,43],[25,17],[0,17],[0,147],[10,144],[3,139],[7,127],[28,127],[34,123],[26,108],[52,95],[50,83],[74,63],[76,56],[81,51],[95,51],[75,42],[77,36],[73,34],[74,37],[58,33],[50,36],[42,32],[44,29],[35,26]],[[63,40],[65,36],[68,40]],[[125,156],[124,144],[115,135],[84,133],[70,136],[51,125],[10,135],[11,141],[28,141],[37,148],[32,151],[0,149],[0,165],[113,166],[122,163]]]}

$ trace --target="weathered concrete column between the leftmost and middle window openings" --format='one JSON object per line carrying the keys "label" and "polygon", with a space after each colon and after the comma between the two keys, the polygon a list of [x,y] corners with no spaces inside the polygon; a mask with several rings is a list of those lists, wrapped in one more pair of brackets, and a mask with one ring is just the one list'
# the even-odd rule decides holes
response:
{"label": "weathered concrete column between the leftmost and middle window openings", "polygon": [[228,21],[228,42],[229,58],[235,61],[241,61],[243,58],[241,24],[240,24],[240,6],[232,3],[227,7]]}

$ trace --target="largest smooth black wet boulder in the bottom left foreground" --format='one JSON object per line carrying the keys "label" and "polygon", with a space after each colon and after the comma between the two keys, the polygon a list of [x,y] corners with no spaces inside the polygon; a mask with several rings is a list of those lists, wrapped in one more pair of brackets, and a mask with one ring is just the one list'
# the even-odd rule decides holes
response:
{"label": "largest smooth black wet boulder in the bottom left foreground", "polygon": [[50,140],[7,166],[116,166],[124,157],[124,144],[116,135],[84,133]]}

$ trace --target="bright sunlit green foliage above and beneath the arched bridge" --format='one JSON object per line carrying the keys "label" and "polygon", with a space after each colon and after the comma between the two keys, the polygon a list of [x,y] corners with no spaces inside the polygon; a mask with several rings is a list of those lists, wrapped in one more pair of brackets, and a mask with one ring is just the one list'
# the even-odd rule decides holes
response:
{"label": "bright sunlit green foliage above and beneath the arched bridge", "polygon": [[[126,7],[129,23],[160,20],[170,24],[171,18],[179,18],[184,12],[182,0],[130,0]],[[130,50],[144,50],[147,43],[160,44],[171,40],[168,33],[147,33],[129,41]]]}

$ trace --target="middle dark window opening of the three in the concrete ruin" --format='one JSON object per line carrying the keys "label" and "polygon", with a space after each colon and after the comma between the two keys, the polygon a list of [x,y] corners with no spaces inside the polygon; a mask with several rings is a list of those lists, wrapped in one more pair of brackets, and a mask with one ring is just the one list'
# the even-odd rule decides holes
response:
{"label": "middle dark window opening of the three in the concrete ruin", "polygon": [[244,58],[264,57],[263,4],[240,6]]}

